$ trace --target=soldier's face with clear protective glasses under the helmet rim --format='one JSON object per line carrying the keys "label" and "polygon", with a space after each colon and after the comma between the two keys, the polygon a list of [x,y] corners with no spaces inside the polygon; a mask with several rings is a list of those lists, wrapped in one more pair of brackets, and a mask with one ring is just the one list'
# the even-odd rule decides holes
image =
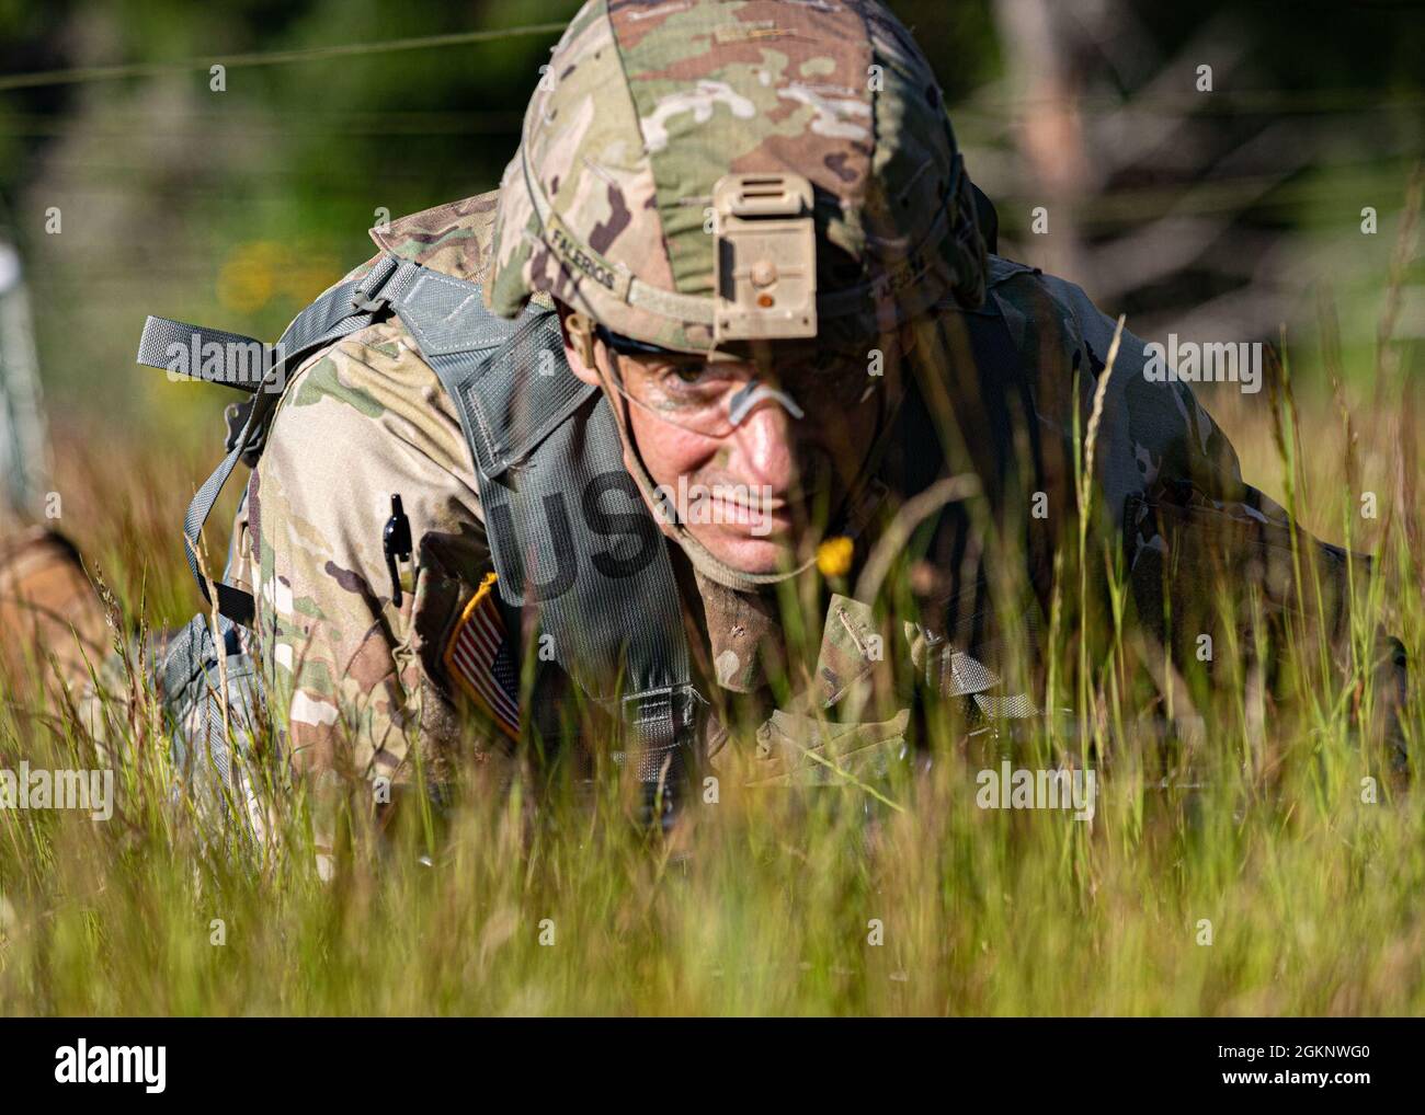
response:
{"label": "soldier's face with clear protective glasses under the helmet rim", "polygon": [[[617,356],[596,340],[597,367],[590,369],[567,342],[566,332],[566,356],[581,380],[606,390],[608,382],[621,384],[623,394],[610,403],[624,409],[654,484],[677,500],[687,530],[715,558],[742,572],[774,572],[811,555],[871,451],[881,383],[862,373],[831,390],[825,379],[799,373],[787,382],[789,406],[767,392],[732,423],[727,403],[750,379],[781,387],[778,366],[807,369],[807,353],[787,349],[779,359],[772,349],[761,369],[698,360],[670,366],[658,357]],[[690,397],[715,403],[701,413]]]}

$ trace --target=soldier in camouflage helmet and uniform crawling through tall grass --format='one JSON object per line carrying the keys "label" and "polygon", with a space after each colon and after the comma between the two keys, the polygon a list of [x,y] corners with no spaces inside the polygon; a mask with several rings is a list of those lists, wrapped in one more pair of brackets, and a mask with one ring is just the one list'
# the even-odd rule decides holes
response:
{"label": "soldier in camouflage helmet and uniform crawling through tall grass", "polygon": [[591,0],[549,73],[499,189],[375,229],[294,322],[200,493],[190,551],[255,466],[224,647],[200,618],[164,669],[190,753],[227,656],[229,721],[264,708],[301,772],[560,755],[663,806],[708,765],[862,785],[932,715],[1040,721],[1049,621],[1110,627],[1106,564],[1164,692],[1237,676],[1204,632],[1302,625],[1379,668],[1395,731],[1398,644],[1349,644],[1368,562],[1247,486],[1079,288],[993,253],[889,11]]}

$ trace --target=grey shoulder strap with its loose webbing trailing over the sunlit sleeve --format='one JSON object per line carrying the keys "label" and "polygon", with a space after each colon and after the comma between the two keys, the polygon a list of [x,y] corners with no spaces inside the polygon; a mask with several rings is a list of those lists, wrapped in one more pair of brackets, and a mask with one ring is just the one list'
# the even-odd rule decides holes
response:
{"label": "grey shoulder strap with its loose webbing trailing over the sunlit sleeve", "polygon": [[[636,736],[640,779],[673,783],[695,735],[700,698],[667,543],[623,467],[608,404],[570,372],[547,306],[532,303],[506,320],[484,308],[479,286],[383,255],[363,278],[302,310],[271,347],[150,318],[138,363],[178,365],[252,392],[228,456],[184,518],[188,565],[204,600],[211,602],[198,534],[238,460],[259,446],[288,372],[390,313],[456,403],[502,600],[520,608],[529,595],[539,605],[554,661],[591,698],[620,706],[618,719]],[[190,352],[201,359],[187,359]],[[219,612],[251,625],[251,594],[222,581],[214,587]]]}

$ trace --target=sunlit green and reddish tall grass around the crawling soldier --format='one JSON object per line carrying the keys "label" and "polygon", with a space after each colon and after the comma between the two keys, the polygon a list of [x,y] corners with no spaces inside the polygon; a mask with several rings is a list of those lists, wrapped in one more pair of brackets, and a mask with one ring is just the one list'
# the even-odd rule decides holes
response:
{"label": "sunlit green and reddish tall grass around the crawling soldier", "polygon": [[[718,802],[663,840],[611,789],[573,802],[470,770],[445,816],[409,800],[378,832],[351,810],[325,881],[308,786],[274,790],[274,837],[244,850],[172,793],[145,709],[113,820],[0,812],[0,1012],[1419,1014],[1421,787],[1352,726],[1374,699],[1371,625],[1382,619],[1412,664],[1425,652],[1419,430],[1398,386],[1337,394],[1330,370],[1297,370],[1321,386],[1298,387],[1295,413],[1280,393],[1201,394],[1248,480],[1320,537],[1382,554],[1385,578],[1354,618],[1352,676],[1282,649],[1304,693],[1291,709],[1264,716],[1228,689],[1198,709],[1194,743],[1164,743],[1134,728],[1143,691],[1126,679],[1141,641],[1080,639],[1064,618],[1054,703],[1077,712],[1013,745],[936,721],[929,770],[892,778],[889,805],[855,786],[752,790],[727,775]],[[198,601],[178,523],[208,454],[145,453],[66,422],[57,440],[61,525],[125,621],[187,618]],[[1070,587],[1077,560],[1066,555]],[[1411,688],[1418,772],[1425,709]],[[1089,748],[1092,822],[976,805],[982,768]],[[20,759],[95,762],[73,709],[13,692],[0,766]]]}

